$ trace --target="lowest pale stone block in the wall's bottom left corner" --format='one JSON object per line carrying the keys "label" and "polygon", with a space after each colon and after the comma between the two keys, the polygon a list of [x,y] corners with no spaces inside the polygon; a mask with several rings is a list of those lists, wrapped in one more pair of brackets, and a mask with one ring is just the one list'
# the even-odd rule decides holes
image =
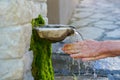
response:
{"label": "lowest pale stone block in the wall's bottom left corner", "polygon": [[22,59],[0,60],[0,80],[22,80],[24,63]]}

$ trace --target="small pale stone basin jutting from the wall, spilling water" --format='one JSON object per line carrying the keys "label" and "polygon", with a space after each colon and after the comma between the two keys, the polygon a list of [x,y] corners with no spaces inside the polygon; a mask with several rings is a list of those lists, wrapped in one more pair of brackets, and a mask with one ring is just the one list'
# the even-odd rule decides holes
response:
{"label": "small pale stone basin jutting from the wall, spilling water", "polygon": [[69,27],[40,27],[36,28],[36,30],[40,38],[44,38],[52,42],[62,41],[67,36],[74,33],[74,30]]}

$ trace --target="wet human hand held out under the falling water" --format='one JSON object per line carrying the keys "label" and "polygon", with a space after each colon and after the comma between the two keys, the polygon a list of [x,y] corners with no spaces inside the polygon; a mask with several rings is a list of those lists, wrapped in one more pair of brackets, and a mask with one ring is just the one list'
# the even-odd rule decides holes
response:
{"label": "wet human hand held out under the falling water", "polygon": [[70,54],[72,58],[82,59],[83,61],[98,60],[111,56],[104,52],[107,51],[107,48],[103,46],[103,43],[95,40],[85,40],[65,44],[62,50],[65,53]]}

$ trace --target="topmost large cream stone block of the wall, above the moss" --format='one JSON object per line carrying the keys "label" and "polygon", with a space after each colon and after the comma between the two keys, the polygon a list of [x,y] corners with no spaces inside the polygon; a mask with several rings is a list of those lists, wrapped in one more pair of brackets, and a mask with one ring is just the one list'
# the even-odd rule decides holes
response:
{"label": "topmost large cream stone block of the wall, above the moss", "polygon": [[29,23],[33,17],[37,17],[40,13],[44,16],[47,15],[45,2],[35,3],[27,0],[1,0],[0,27]]}

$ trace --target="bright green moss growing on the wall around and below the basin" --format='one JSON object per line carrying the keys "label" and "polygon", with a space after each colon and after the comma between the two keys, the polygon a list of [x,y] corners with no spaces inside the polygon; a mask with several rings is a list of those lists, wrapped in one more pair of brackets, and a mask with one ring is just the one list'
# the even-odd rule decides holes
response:
{"label": "bright green moss growing on the wall around and below the basin", "polygon": [[[32,20],[32,27],[43,26],[45,21],[42,16]],[[32,30],[30,49],[33,50],[32,75],[34,80],[54,80],[51,61],[51,42],[39,38],[36,30]]]}

